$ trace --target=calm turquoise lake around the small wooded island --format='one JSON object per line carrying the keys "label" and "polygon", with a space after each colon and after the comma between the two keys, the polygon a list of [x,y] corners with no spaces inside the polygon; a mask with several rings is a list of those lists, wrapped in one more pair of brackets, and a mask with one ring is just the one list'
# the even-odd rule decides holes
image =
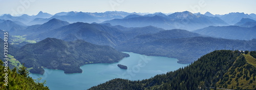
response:
{"label": "calm turquoise lake around the small wooded island", "polygon": [[[130,54],[130,57],[123,58],[115,64],[84,65],[81,66],[82,73],[65,74],[62,70],[45,69],[44,75],[30,74],[30,77],[33,79],[41,77],[41,82],[46,80],[46,86],[51,90],[83,90],[114,78],[142,80],[188,65],[178,64],[176,58],[124,53]],[[125,65],[128,69],[120,69],[118,64]]]}

